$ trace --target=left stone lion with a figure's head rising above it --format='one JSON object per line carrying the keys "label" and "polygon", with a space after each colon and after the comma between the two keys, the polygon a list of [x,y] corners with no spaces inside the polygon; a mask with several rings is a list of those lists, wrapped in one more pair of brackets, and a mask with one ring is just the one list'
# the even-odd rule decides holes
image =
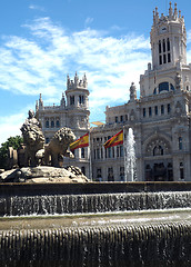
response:
{"label": "left stone lion with a figure's head rising above it", "polygon": [[39,159],[37,152],[44,149],[44,136],[40,122],[34,117],[33,110],[29,110],[29,117],[20,130],[26,145],[24,166],[38,166]]}

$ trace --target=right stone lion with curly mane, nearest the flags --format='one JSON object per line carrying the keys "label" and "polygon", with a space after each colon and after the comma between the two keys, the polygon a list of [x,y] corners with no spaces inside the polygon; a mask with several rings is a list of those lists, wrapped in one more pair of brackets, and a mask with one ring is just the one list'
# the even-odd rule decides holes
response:
{"label": "right stone lion with curly mane, nearest the flags", "polygon": [[44,164],[59,167],[63,157],[74,158],[73,154],[68,150],[69,145],[76,140],[76,136],[70,128],[63,127],[56,132],[51,141],[44,148]]}

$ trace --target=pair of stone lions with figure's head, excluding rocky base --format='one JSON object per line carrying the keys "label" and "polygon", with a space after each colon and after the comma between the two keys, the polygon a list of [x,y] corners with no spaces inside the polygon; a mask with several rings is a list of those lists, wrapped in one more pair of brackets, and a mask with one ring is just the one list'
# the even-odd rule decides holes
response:
{"label": "pair of stone lions with figure's head, excluding rocky base", "polygon": [[51,165],[52,167],[60,167],[63,157],[74,157],[68,149],[69,145],[76,140],[72,130],[67,127],[61,128],[51,141],[44,145],[41,125],[34,117],[33,110],[29,110],[29,118],[22,125],[21,131],[26,145],[26,162],[23,166]]}

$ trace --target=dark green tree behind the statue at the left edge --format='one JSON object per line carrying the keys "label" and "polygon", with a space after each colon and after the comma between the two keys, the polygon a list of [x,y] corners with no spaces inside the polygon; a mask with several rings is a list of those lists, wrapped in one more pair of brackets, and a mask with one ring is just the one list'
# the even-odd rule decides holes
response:
{"label": "dark green tree behind the statue at the left edge", "polygon": [[0,147],[0,169],[7,169],[7,160],[8,160],[8,150],[9,147],[13,149],[18,149],[20,145],[23,144],[23,138],[20,136],[9,137],[6,142],[1,144]]}

